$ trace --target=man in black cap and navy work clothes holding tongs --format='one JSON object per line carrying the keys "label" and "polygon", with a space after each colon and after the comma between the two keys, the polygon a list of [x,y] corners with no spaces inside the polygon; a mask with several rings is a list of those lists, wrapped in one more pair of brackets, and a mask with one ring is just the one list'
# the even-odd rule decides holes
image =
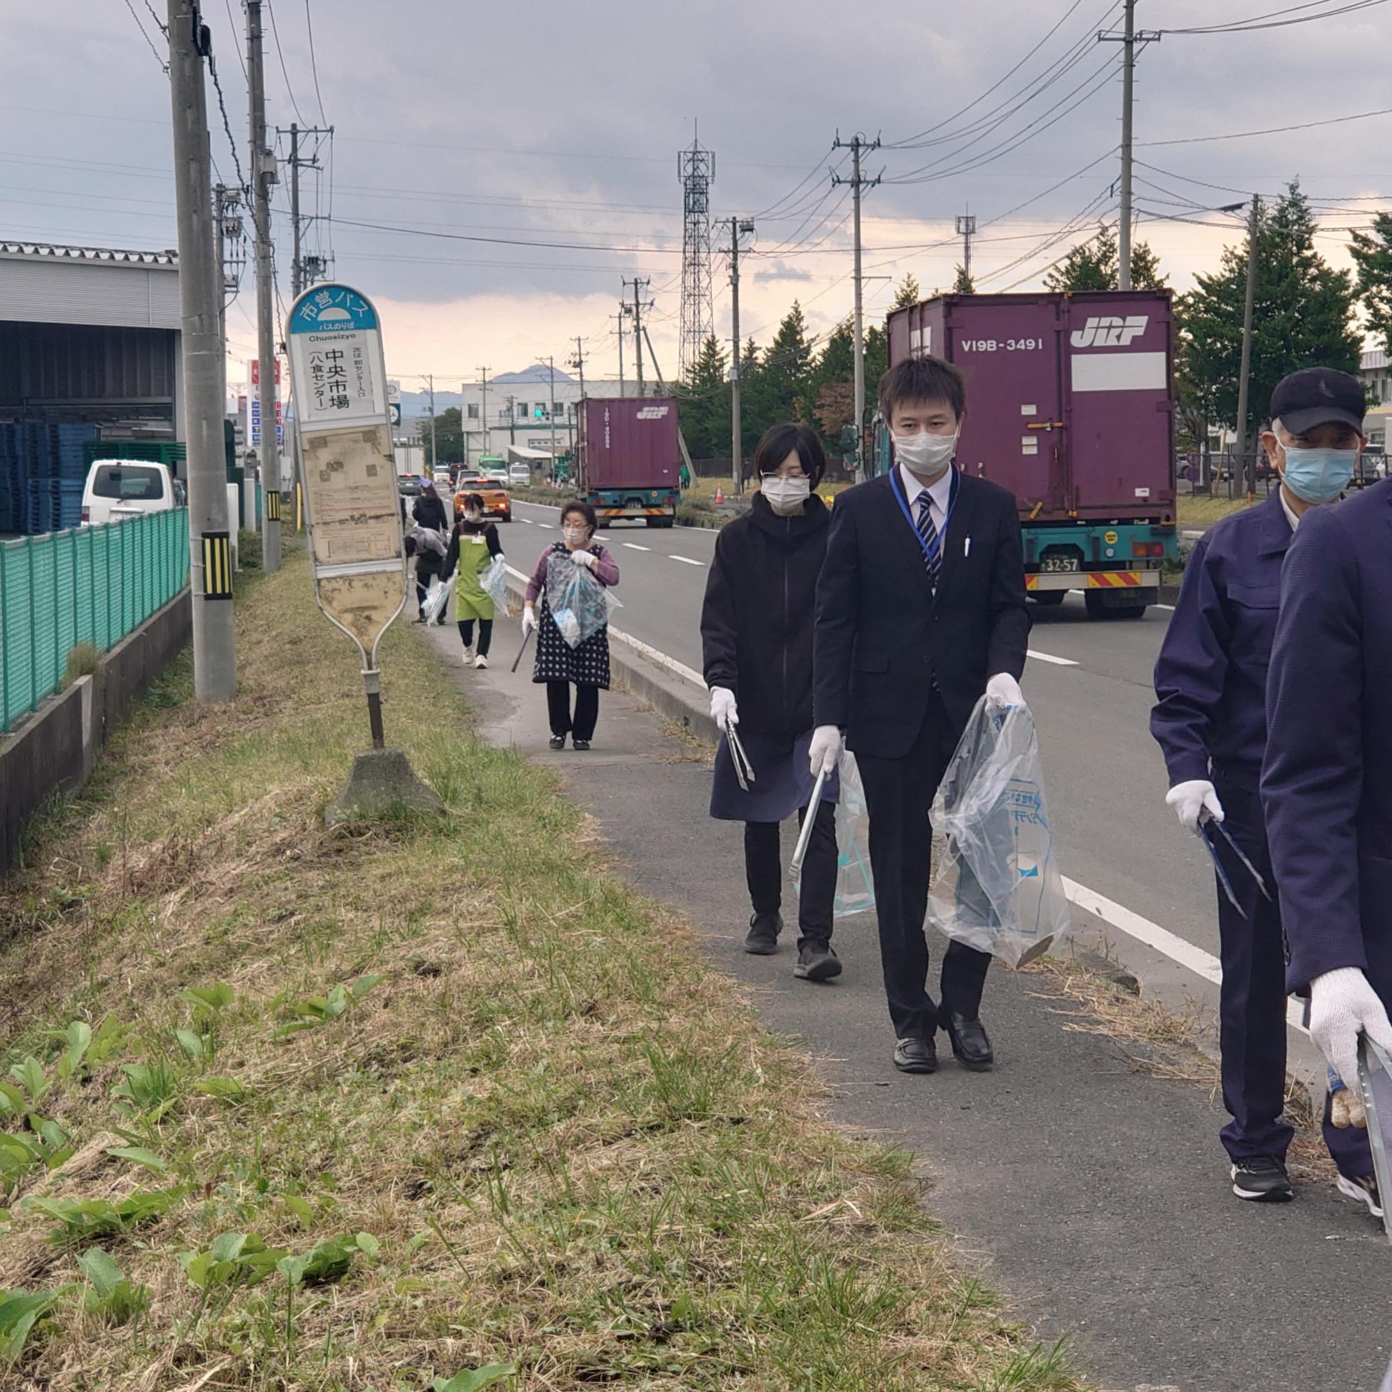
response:
{"label": "man in black cap and navy work clothes holding tongs", "polygon": [[[1285,942],[1260,796],[1267,664],[1290,539],[1308,525],[1303,519],[1310,508],[1336,498],[1347,483],[1347,475],[1310,476],[1296,445],[1331,432],[1356,434],[1349,422],[1361,426],[1363,393],[1347,373],[1313,367],[1276,386],[1271,411],[1276,419],[1264,440],[1282,475],[1281,487],[1260,507],[1224,518],[1190,553],[1155,663],[1157,704],[1150,718],[1172,785],[1165,800],[1189,831],[1208,839],[1237,901],[1229,901],[1219,880],[1219,1045],[1224,1105],[1232,1116],[1221,1134],[1233,1193],[1258,1201],[1293,1196],[1285,1166],[1293,1130],[1282,1121]],[[1271,899],[1208,821],[1222,824],[1261,874]],[[1327,1126],[1327,1134],[1340,1168],[1356,1175],[1371,1171],[1361,1133]]]}

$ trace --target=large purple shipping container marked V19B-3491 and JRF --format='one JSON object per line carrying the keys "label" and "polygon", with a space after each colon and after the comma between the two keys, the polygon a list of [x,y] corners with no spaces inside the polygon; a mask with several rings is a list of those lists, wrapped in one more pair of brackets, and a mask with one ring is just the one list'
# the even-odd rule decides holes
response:
{"label": "large purple shipping container marked V19B-3491 and JRF", "polygon": [[958,462],[1031,522],[1175,519],[1169,291],[942,295],[889,316],[889,362],[962,369]]}

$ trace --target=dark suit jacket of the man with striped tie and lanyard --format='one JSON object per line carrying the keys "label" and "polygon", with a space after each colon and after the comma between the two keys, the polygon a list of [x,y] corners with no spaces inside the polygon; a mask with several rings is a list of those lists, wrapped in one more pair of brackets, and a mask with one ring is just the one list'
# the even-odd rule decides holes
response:
{"label": "dark suit jacket of the man with striped tie and lanyard", "polygon": [[817,580],[813,720],[841,725],[852,750],[906,754],[934,678],[960,734],[987,678],[1025,671],[1029,632],[1012,493],[962,475],[935,596],[889,475],[837,498]]}

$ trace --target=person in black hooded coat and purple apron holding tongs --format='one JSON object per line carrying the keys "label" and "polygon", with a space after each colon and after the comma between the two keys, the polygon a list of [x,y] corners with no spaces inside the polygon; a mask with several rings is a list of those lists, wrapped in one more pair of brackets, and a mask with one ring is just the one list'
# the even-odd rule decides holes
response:
{"label": "person in black hooded coat and purple apron holding tongs", "polygon": [[827,505],[813,491],[827,461],[806,426],[771,426],[754,450],[759,491],[749,511],[715,537],[700,632],[711,720],[739,742],[757,778],[739,785],[728,741],[715,754],[710,814],[745,824],[745,880],[753,916],[745,951],[778,951],[782,856],[778,828],[798,813],[813,817],[798,905],[793,976],[825,981],[841,974],[831,949],[837,896],[837,789],[831,781],[809,813],[813,775],[812,611],[827,554]]}

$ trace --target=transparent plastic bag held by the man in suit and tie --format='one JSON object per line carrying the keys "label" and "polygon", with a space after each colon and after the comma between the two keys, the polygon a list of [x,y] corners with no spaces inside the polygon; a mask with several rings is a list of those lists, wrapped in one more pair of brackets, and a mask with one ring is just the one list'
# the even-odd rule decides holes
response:
{"label": "transparent plastic bag held by the man in suit and tie", "polygon": [[947,851],[928,887],[928,922],[1023,966],[1068,931],[1038,736],[1029,706],[976,703],[938,785],[933,827]]}

